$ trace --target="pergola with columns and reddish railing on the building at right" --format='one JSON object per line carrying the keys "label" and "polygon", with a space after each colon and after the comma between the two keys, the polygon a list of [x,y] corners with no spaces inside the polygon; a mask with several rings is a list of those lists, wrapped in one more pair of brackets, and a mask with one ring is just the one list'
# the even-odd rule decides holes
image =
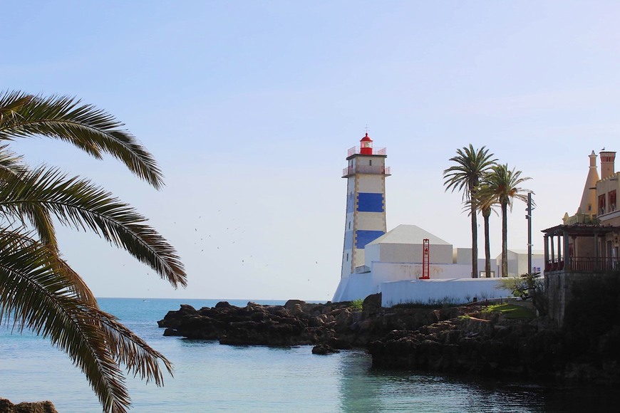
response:
{"label": "pergola with columns and reddish railing on the building at right", "polygon": [[[617,263],[611,257],[602,256],[599,251],[599,237],[620,232],[620,226],[600,224],[558,225],[543,229],[544,233],[544,271],[613,271]],[[569,239],[593,238],[594,256],[573,256],[569,251]],[[557,241],[556,241],[557,239]],[[555,249],[557,246],[557,249]]]}

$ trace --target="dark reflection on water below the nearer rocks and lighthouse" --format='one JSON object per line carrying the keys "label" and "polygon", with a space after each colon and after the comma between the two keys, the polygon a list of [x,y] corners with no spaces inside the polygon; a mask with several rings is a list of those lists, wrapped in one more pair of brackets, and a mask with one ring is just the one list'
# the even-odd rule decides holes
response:
{"label": "dark reflection on water below the nearer rocks and lighthouse", "polygon": [[617,411],[616,391],[609,387],[376,370],[368,355],[341,354],[341,412]]}

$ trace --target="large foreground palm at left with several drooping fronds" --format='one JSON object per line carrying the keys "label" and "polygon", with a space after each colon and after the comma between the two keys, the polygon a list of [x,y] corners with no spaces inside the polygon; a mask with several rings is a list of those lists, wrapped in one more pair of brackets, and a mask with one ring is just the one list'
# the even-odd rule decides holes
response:
{"label": "large foreground palm at left with several drooping fronds", "polygon": [[[159,189],[153,156],[123,124],[75,98],[0,95],[0,140],[41,136],[71,142],[95,158],[123,162]],[[121,367],[156,385],[172,365],[113,315],[99,309],[81,276],[63,260],[55,223],[90,229],[153,268],[172,286],[186,286],[175,249],[145,217],[88,179],[46,165],[31,169],[0,145],[0,323],[49,338],[81,368],[105,412],[125,412],[130,397]]]}

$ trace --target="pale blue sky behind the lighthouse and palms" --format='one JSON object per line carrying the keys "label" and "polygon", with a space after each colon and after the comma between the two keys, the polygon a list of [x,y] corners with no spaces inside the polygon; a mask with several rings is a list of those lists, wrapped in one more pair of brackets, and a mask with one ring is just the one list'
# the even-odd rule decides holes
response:
{"label": "pale blue sky behind the lighthouse and palms", "polygon": [[[388,230],[470,247],[442,173],[472,144],[532,178],[542,249],[540,231],[577,210],[591,151],[620,149],[619,16],[617,1],[12,1],[0,78],[105,109],[165,174],[156,191],[111,157],[11,144],[135,206],[185,263],[175,290],[95,234],[60,229],[96,296],[329,300],[341,171],[366,127],[387,148]],[[492,216],[493,257],[500,228]],[[522,202],[508,246],[527,249]]]}

